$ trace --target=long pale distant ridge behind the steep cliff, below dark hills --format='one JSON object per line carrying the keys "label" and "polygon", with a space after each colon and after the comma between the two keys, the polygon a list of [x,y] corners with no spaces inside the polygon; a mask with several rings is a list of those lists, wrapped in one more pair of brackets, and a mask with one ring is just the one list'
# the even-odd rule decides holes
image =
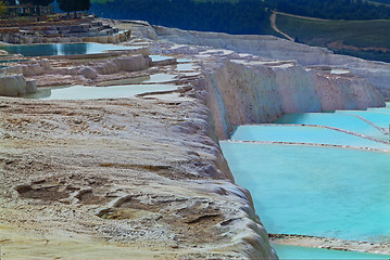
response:
{"label": "long pale distant ridge behind the steep cliff, below dark hills", "polygon": [[[383,96],[390,99],[389,63],[337,55],[325,48],[295,43],[274,36],[227,35],[222,32],[180,30],[162,26],[153,26],[153,28],[158,38],[178,44],[210,46],[236,52],[251,53],[269,60],[297,60],[303,66],[329,65],[348,68],[352,74],[367,79]],[[142,30],[137,30],[137,34],[142,34]],[[144,37],[149,35],[144,35]]]}

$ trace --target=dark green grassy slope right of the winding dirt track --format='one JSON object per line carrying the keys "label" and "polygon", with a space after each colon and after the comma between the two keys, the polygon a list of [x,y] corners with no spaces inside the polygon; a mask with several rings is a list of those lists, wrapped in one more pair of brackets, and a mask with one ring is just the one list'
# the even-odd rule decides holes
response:
{"label": "dark green grassy slope right of the winding dirt track", "polygon": [[[390,50],[390,20],[386,21],[312,21],[278,14],[277,27],[301,42],[328,47],[330,42],[342,42],[357,48],[386,48]],[[331,48],[329,48],[331,49]],[[390,51],[335,50],[337,53],[363,58],[390,62]]]}

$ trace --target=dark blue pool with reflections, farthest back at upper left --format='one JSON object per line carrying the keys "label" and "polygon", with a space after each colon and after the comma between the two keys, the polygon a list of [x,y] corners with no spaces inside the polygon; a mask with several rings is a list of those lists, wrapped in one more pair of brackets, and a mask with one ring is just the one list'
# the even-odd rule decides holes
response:
{"label": "dark blue pool with reflections, farthest back at upper left", "polygon": [[56,56],[75,54],[96,54],[104,51],[131,50],[136,47],[124,47],[101,43],[52,43],[52,44],[25,44],[25,46],[1,46],[10,54],[22,54],[24,56]]}

